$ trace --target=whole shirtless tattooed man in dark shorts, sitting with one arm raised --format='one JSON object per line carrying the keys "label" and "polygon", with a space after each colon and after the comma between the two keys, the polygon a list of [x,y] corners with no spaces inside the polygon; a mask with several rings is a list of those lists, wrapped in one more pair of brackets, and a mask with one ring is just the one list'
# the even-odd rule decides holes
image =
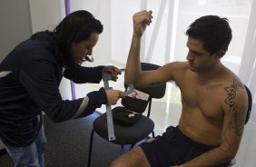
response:
{"label": "whole shirtless tattooed man in dark shorts, sitting with one arm raised", "polygon": [[189,26],[187,61],[153,71],[140,67],[141,37],[152,22],[152,11],[133,15],[133,39],[125,83],[137,87],[173,81],[182,93],[177,127],[123,154],[112,167],[227,166],[238,151],[247,93],[238,76],[221,63],[231,42],[228,20],[206,15]]}

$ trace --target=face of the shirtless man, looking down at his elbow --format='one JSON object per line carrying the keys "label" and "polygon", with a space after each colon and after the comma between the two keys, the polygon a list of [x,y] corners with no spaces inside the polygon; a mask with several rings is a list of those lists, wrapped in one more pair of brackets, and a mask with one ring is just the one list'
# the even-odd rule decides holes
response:
{"label": "face of the shirtless man, looking down at his elbow", "polygon": [[190,69],[193,72],[207,72],[220,60],[216,54],[210,54],[203,48],[200,40],[188,37],[187,47],[189,52],[187,60],[190,64]]}

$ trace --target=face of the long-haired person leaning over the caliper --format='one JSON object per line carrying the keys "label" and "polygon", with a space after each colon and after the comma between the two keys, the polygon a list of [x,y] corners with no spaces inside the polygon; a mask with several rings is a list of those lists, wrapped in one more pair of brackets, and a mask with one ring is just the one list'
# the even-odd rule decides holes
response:
{"label": "face of the long-haired person leaning over the caliper", "polygon": [[93,54],[94,45],[97,44],[99,34],[93,33],[91,36],[80,43],[73,44],[72,52],[76,61],[83,60],[87,55]]}

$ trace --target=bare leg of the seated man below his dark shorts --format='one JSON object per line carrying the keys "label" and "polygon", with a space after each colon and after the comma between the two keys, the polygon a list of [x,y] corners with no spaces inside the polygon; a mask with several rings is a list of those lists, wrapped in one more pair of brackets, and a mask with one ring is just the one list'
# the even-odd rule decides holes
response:
{"label": "bare leg of the seated man below his dark shorts", "polygon": [[146,155],[140,146],[130,152],[124,153],[112,162],[111,167],[150,167]]}

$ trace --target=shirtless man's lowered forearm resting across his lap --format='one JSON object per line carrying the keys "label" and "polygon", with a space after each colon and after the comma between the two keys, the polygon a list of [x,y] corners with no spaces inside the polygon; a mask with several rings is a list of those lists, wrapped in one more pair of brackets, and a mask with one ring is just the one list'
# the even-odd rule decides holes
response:
{"label": "shirtless man's lowered forearm resting across his lap", "polygon": [[231,152],[225,152],[221,147],[217,147],[209,152],[204,152],[202,155],[192,159],[189,162],[183,163],[180,167],[210,167],[216,166],[225,162],[230,162],[233,158]]}

